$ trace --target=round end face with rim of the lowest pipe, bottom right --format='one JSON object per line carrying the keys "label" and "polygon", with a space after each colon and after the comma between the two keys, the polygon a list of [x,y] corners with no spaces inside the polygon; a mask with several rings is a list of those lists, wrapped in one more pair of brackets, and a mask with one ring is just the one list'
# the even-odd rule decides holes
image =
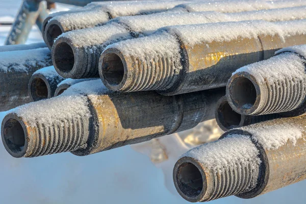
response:
{"label": "round end face with rim of the lowest pipe, bottom right", "polygon": [[196,160],[183,157],[176,162],[173,170],[174,186],[189,202],[202,201],[207,191],[206,174]]}

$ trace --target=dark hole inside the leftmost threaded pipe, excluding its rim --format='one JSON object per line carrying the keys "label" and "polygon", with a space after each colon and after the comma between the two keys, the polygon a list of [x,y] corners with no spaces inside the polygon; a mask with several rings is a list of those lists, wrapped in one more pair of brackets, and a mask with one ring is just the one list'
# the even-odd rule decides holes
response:
{"label": "dark hole inside the leftmost threaded pipe, excluding its rim", "polygon": [[20,152],[25,144],[25,133],[20,122],[14,118],[4,124],[4,141],[12,152]]}

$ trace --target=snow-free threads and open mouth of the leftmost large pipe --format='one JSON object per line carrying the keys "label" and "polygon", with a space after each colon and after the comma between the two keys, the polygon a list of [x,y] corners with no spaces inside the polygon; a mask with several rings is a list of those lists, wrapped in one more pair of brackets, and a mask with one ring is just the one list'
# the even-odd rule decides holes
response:
{"label": "snow-free threads and open mouth of the leftmost large pipe", "polygon": [[85,147],[88,123],[88,118],[74,117],[48,125],[37,120],[30,126],[10,113],[2,122],[2,141],[9,154],[16,158],[73,151]]}

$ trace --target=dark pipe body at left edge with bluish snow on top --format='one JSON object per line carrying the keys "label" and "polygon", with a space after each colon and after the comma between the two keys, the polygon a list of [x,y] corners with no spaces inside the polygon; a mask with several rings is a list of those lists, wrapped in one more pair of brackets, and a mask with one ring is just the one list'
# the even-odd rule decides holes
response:
{"label": "dark pipe body at left edge with bluish snow on top", "polygon": [[38,69],[52,65],[48,48],[0,53],[0,111],[29,103],[28,83]]}

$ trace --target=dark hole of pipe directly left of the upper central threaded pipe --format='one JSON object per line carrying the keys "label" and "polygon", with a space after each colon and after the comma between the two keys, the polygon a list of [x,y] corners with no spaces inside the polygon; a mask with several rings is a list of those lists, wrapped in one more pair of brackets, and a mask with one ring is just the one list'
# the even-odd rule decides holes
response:
{"label": "dark hole of pipe directly left of the upper central threaded pipe", "polygon": [[71,71],[74,65],[74,54],[70,45],[61,42],[55,46],[54,53],[56,67],[63,72]]}

